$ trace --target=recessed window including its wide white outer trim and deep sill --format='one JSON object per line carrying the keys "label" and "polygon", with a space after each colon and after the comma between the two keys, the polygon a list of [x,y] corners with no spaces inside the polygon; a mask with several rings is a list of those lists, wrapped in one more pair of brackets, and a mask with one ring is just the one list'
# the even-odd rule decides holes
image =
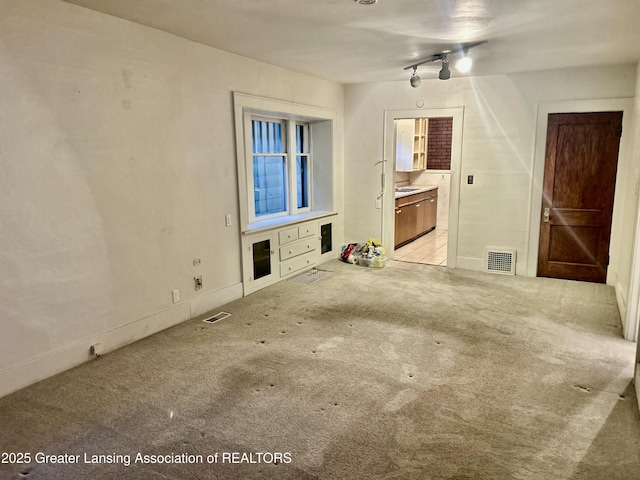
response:
{"label": "recessed window including its wide white outer trim and deep sill", "polygon": [[234,92],[243,232],[333,214],[335,110]]}

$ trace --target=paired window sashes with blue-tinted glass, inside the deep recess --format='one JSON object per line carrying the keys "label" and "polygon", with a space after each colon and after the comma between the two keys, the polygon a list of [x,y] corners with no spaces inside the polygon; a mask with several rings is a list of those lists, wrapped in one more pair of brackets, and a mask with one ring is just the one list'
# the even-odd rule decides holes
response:
{"label": "paired window sashes with blue-tinted glass, inside the deep recess", "polygon": [[[257,115],[250,115],[250,121],[253,217],[258,221],[308,211],[311,207],[309,124]],[[294,181],[290,182],[290,178]]]}

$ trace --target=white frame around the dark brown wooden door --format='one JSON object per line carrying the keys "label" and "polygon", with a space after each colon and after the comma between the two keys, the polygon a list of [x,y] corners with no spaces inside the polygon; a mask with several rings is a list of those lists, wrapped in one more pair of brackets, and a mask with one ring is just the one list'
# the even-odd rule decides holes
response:
{"label": "white frame around the dark brown wooden door", "polygon": [[[616,175],[615,193],[613,200],[611,241],[609,243],[609,251],[611,257],[610,264],[617,264],[618,255],[620,254],[620,243],[622,236],[622,214],[624,213],[621,199],[624,198],[624,179],[627,176],[628,172],[630,172],[633,110],[633,98],[572,100],[538,104],[533,168],[531,173],[531,188],[529,189],[529,242],[526,252],[527,276],[537,276],[538,251],[540,248],[540,205],[542,205],[542,189],[544,182],[544,167],[546,161],[547,127],[549,114],[552,113],[589,113],[609,111],[623,112],[623,133],[622,138],[620,139],[620,149],[618,150],[618,171]],[[617,272],[612,271],[612,269],[610,268],[607,269],[606,284],[615,287],[618,308],[623,319],[625,338],[627,338],[627,332],[631,330],[635,332],[637,328],[636,325],[627,325],[627,323],[629,322],[626,312],[626,304],[628,299],[624,298],[627,292],[622,291],[619,279],[617,278]],[[631,339],[627,338],[627,340]]]}

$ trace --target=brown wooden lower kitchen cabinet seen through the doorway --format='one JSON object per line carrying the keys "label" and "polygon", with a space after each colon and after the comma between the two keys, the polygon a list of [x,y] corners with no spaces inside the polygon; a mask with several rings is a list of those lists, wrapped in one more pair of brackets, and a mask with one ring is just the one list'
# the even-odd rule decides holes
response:
{"label": "brown wooden lower kitchen cabinet seen through the doorway", "polygon": [[436,228],[438,189],[396,199],[395,247]]}

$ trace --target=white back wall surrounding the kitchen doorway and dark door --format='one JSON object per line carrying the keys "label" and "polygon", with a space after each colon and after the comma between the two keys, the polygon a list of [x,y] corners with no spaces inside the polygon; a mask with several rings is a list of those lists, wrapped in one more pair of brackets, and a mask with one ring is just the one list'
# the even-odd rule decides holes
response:
{"label": "white back wall surrounding the kitchen doorway and dark door", "polygon": [[[346,233],[380,232],[375,209],[383,151],[384,110],[464,107],[457,266],[481,270],[486,246],[515,248],[517,274],[527,272],[530,197],[538,106],[544,102],[633,97],[635,65],[576,68],[517,75],[349,85],[345,88]],[[622,168],[630,162],[620,159]],[[537,188],[537,187],[535,187]],[[453,199],[452,199],[453,200]],[[620,203],[616,198],[616,202]],[[624,202],[623,202],[624,203]],[[626,207],[628,208],[628,207]],[[622,215],[627,218],[628,212]],[[451,228],[451,226],[450,226]],[[380,235],[376,233],[376,235]],[[628,232],[627,232],[628,235]],[[630,252],[612,252],[629,262]]]}

